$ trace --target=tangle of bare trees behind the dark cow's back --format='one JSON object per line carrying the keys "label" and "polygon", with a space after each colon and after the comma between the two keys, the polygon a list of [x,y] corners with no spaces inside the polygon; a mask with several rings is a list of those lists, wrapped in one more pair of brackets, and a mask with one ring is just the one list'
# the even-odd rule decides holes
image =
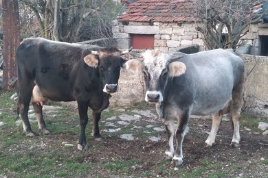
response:
{"label": "tangle of bare trees behind the dark cow's back", "polygon": [[43,38],[78,42],[112,36],[111,0],[19,1],[31,8]]}

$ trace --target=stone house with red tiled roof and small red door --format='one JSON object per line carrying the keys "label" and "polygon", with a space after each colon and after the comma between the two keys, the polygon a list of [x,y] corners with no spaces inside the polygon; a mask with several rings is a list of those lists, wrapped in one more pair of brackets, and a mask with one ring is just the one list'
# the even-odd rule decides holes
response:
{"label": "stone house with red tiled roof and small red door", "polygon": [[[113,21],[113,36],[120,49],[161,49],[177,51],[199,45],[202,34],[190,15],[192,0],[139,0],[129,4],[124,14]],[[248,54],[268,55],[268,23],[249,25],[241,42],[249,44]]]}

